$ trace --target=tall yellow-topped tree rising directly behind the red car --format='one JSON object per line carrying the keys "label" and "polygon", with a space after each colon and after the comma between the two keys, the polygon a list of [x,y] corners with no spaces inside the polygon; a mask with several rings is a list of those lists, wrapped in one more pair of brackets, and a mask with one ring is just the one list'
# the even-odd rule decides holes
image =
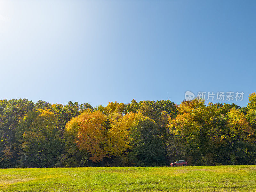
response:
{"label": "tall yellow-topped tree rising directly behind the red car", "polygon": [[207,132],[215,114],[216,111],[205,106],[202,100],[183,101],[175,119],[169,117],[171,136],[167,150],[170,156],[176,151],[178,155],[172,158],[186,158],[191,163],[200,164],[202,157],[209,152]]}

